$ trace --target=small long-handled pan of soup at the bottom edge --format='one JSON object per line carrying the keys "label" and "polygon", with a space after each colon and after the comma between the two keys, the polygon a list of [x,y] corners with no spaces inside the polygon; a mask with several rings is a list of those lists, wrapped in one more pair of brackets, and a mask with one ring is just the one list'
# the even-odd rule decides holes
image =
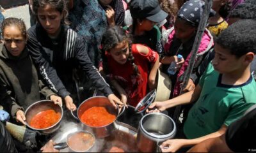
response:
{"label": "small long-handled pan of soup at the bottom edge", "polygon": [[88,131],[76,131],[67,136],[67,142],[54,145],[54,149],[65,149],[69,152],[88,152],[95,144],[95,136]]}

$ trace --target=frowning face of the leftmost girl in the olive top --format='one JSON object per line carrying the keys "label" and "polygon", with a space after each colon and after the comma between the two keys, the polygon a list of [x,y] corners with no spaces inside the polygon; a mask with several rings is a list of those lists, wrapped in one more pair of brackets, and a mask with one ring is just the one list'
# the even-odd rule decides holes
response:
{"label": "frowning face of the leftmost girl in the olive top", "polygon": [[10,25],[4,28],[3,40],[6,49],[13,56],[19,56],[26,46],[26,38],[15,25]]}

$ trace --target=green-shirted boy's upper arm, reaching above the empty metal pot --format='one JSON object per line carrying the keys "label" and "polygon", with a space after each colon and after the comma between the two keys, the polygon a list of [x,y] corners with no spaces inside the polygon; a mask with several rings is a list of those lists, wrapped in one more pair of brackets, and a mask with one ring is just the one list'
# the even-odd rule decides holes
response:
{"label": "green-shirted boy's upper arm, reaching above the empty metal pot", "polygon": [[186,92],[185,94],[181,94],[180,96],[169,99],[167,101],[155,101],[150,105],[148,108],[151,110],[147,110],[147,112],[162,112],[167,108],[172,108],[177,105],[186,105],[189,103],[195,102],[200,94],[201,94],[201,87],[197,85],[195,90]]}

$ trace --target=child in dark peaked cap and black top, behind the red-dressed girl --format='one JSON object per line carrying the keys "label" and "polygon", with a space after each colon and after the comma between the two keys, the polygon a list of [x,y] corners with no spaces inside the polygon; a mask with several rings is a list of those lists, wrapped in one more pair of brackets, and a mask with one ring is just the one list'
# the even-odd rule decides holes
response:
{"label": "child in dark peaked cap and black top, behind the red-dressed girl", "polygon": [[161,10],[158,0],[132,0],[129,3],[132,16],[132,25],[128,31],[133,36],[133,43],[147,45],[161,55],[161,33],[155,25],[167,17],[167,13]]}

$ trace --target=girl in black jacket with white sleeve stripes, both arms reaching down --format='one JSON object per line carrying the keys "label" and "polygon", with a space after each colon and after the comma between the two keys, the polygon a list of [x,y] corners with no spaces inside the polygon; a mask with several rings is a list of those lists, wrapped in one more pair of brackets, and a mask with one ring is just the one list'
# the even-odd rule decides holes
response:
{"label": "girl in black jacket with white sleeve stripes, both arms reaching down", "polygon": [[69,110],[76,109],[71,97],[78,92],[72,82],[74,68],[86,75],[83,77],[90,78],[92,84],[108,96],[114,106],[115,103],[122,105],[90,61],[83,38],[65,25],[65,3],[65,0],[33,1],[38,23],[28,30],[28,49],[40,74],[49,87],[65,99]]}

